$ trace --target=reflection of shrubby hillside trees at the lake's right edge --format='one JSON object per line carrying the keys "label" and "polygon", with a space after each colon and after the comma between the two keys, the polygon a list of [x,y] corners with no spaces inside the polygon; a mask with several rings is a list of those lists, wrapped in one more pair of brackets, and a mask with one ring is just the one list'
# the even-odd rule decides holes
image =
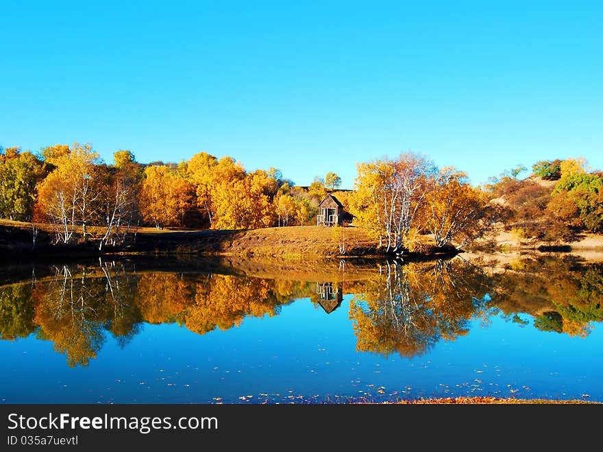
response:
{"label": "reflection of shrubby hillside trees at the lake's right edge", "polygon": [[528,313],[534,326],[586,337],[592,322],[603,320],[603,264],[576,257],[524,258],[495,274],[496,305],[509,316]]}

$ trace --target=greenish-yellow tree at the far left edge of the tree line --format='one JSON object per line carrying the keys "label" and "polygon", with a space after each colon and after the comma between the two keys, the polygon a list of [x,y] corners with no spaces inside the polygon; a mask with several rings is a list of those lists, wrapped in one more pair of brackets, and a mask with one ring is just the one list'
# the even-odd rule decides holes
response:
{"label": "greenish-yellow tree at the far left edge of the tree line", "polygon": [[0,152],[0,215],[32,219],[37,185],[47,175],[46,165],[31,152],[8,147]]}

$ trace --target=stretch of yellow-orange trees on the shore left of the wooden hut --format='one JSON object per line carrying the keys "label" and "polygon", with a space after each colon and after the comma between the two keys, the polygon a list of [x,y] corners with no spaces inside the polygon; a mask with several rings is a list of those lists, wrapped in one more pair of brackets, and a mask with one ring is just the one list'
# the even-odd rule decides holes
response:
{"label": "stretch of yellow-orange trees on the shore left of the wooden hut", "polygon": [[[0,215],[52,224],[58,243],[90,238],[123,243],[137,226],[244,229],[310,224],[341,178],[328,172],[295,187],[279,169],[247,171],[206,152],[180,163],[142,164],[129,150],[104,163],[91,145],[53,145],[39,153],[0,150]],[[98,235],[98,233],[97,233]]]}

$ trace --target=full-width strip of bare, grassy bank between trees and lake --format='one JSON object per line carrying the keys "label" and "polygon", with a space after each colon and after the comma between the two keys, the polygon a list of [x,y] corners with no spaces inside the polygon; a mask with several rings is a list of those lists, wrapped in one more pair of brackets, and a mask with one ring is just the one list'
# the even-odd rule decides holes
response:
{"label": "full-width strip of bare, grassy bank between trees and lake", "polygon": [[[285,259],[288,261],[325,258],[442,259],[461,253],[465,259],[496,259],[508,262],[525,254],[572,254],[587,261],[603,261],[603,235],[582,234],[577,241],[545,243],[528,241],[499,229],[494,237],[469,250],[437,248],[430,236],[421,237],[419,250],[399,255],[385,253],[365,230],[355,227],[323,228],[288,226],[254,230],[156,230],[139,228],[125,246],[103,246],[99,250],[97,231],[92,239],[66,245],[53,243],[48,226],[0,220],[0,259],[45,260],[56,257],[108,256],[221,256],[237,259]],[[98,233],[97,233],[98,234]]]}

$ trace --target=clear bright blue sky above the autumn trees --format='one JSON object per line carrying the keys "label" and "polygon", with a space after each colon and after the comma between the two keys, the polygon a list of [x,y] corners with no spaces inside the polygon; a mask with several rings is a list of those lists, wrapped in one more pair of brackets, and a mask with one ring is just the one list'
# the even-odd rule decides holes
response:
{"label": "clear bright blue sky above the autumn trees", "polygon": [[0,145],[229,155],[296,185],[400,152],[603,169],[603,1],[1,1]]}

